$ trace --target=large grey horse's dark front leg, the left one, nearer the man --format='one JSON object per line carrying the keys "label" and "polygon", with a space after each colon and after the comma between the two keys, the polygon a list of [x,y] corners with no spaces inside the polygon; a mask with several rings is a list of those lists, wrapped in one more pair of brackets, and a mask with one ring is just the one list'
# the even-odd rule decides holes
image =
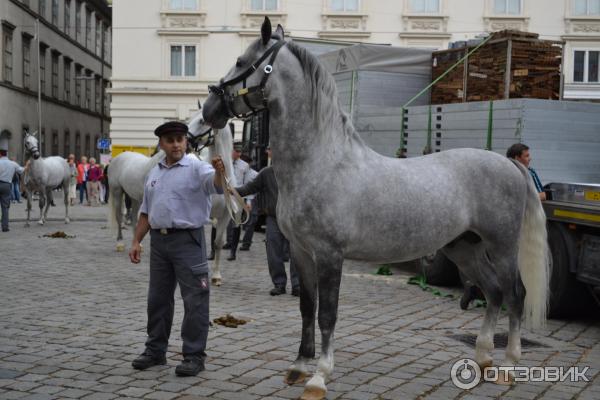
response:
{"label": "large grey horse's dark front leg, the left one, nearer the man", "polygon": [[288,369],[285,383],[302,383],[309,375],[308,363],[315,357],[315,314],[317,307],[317,273],[310,255],[290,243],[291,262],[300,281],[300,313],[302,314],[302,341],[298,358]]}

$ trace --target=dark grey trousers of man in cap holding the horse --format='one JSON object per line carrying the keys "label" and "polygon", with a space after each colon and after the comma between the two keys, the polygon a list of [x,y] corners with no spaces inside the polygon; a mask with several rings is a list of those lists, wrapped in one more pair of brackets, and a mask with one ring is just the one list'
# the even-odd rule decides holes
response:
{"label": "dark grey trousers of man in cap holding the horse", "polygon": [[167,352],[175,311],[175,287],[179,283],[184,306],[183,355],[206,357],[210,287],[204,229],[167,235],[151,230],[150,239],[146,348],[153,354]]}

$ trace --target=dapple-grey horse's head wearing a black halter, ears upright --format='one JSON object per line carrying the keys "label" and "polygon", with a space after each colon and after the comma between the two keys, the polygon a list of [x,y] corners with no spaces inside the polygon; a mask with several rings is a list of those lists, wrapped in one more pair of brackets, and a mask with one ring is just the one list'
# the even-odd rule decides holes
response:
{"label": "dapple-grey horse's head wearing a black halter, ears upright", "polygon": [[[261,37],[238,57],[219,85],[209,86],[204,120],[212,127],[223,128],[229,118],[247,117],[267,108],[271,93],[269,77],[286,43],[283,27],[277,25],[275,32],[271,32],[271,21],[265,17]],[[279,63],[281,68],[285,64]]]}

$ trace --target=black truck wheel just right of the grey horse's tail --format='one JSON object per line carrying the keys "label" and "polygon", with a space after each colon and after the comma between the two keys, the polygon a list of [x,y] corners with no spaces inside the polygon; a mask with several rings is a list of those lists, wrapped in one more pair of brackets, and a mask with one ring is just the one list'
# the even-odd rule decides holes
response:
{"label": "black truck wheel just right of the grey horse's tail", "polygon": [[548,224],[548,245],[550,246],[550,299],[548,316],[562,318],[580,311],[582,294],[587,293],[582,283],[570,271],[571,254],[568,241],[571,233],[559,223]]}

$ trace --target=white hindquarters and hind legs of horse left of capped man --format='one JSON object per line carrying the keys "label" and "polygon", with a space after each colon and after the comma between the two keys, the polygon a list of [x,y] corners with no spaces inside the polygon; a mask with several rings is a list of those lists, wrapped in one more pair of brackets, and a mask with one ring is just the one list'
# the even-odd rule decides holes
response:
{"label": "white hindquarters and hind legs of horse left of capped man", "polygon": [[126,151],[116,156],[108,167],[108,188],[110,207],[108,221],[111,229],[117,232],[117,251],[125,250],[123,244],[123,196],[131,198],[132,226],[137,224],[137,215],[144,197],[144,180],[152,168],[165,158],[159,150],[154,156]]}

